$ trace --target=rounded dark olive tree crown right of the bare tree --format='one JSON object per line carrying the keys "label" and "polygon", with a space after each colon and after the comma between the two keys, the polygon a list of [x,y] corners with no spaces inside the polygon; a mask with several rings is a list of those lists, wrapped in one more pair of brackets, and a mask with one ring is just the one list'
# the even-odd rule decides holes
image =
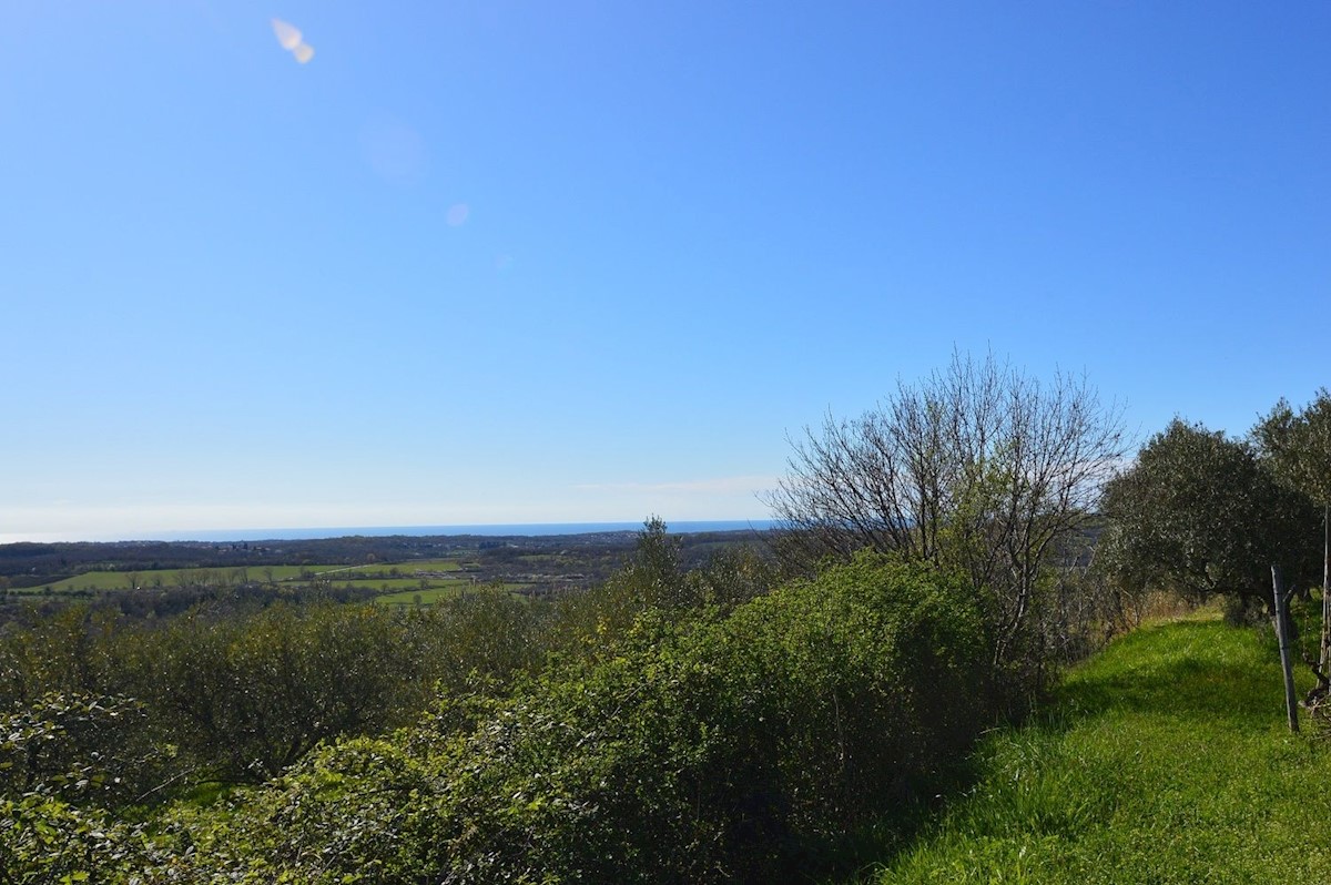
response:
{"label": "rounded dark olive tree crown right of the bare tree", "polygon": [[1246,441],[1174,419],[1105,488],[1101,563],[1129,590],[1270,608],[1271,566],[1307,584],[1316,508]]}

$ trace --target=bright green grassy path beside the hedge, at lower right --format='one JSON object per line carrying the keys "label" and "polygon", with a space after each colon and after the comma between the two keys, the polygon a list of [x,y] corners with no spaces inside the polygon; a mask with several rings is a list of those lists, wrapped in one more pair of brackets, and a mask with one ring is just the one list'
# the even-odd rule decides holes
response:
{"label": "bright green grassy path beside the hedge, at lower right", "polygon": [[872,882],[1331,882],[1331,744],[1284,727],[1272,643],[1218,621],[1114,643],[1051,721]]}

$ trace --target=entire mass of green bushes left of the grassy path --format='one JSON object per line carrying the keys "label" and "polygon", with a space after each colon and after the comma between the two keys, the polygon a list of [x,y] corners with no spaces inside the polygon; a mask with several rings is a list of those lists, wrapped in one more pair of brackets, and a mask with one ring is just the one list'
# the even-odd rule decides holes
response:
{"label": "entire mass of green bushes left of the grassy path", "polygon": [[[669,554],[644,532],[563,607],[495,592],[12,633],[8,881],[761,881],[914,802],[998,715],[970,588],[862,554],[763,595],[760,560]],[[84,725],[112,709],[170,752],[110,752]],[[214,804],[177,789],[277,772]]]}

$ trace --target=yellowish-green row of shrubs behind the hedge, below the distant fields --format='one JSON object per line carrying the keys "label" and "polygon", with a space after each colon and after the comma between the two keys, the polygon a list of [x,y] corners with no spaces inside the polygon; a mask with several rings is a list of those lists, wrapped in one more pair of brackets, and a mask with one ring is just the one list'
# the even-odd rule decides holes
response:
{"label": "yellowish-green row of shrubs behind the hedge, below the distant fields", "polygon": [[[539,665],[544,618],[498,591],[407,612],[213,603],[162,621],[75,606],[0,636],[0,715],[132,697],[134,733],[176,748],[162,780],[260,783],[321,741],[413,721],[441,688]],[[63,741],[91,757],[98,733]]]}

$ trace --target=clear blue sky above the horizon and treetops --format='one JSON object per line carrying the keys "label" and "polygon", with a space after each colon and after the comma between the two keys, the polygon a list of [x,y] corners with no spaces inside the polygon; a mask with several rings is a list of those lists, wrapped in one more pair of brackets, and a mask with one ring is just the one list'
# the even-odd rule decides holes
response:
{"label": "clear blue sky above the horizon and treetops", "polygon": [[0,5],[0,540],[763,518],[953,349],[1243,433],[1328,307],[1326,3]]}

